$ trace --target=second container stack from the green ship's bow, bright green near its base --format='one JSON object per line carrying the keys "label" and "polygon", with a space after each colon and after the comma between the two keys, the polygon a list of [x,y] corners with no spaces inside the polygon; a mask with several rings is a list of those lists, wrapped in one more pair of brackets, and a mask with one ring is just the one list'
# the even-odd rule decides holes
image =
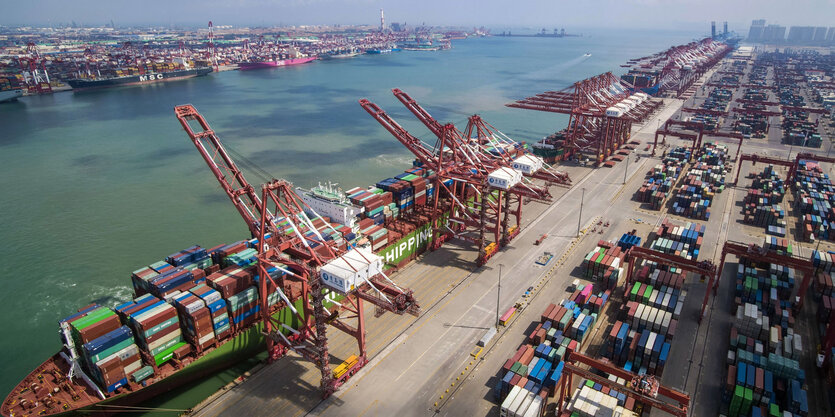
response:
{"label": "second container stack from the green ship's bow, bright green near its base", "polygon": [[116,311],[133,329],[140,354],[151,366],[159,367],[173,358],[178,349],[188,349],[177,309],[171,304],[146,294],[117,306]]}

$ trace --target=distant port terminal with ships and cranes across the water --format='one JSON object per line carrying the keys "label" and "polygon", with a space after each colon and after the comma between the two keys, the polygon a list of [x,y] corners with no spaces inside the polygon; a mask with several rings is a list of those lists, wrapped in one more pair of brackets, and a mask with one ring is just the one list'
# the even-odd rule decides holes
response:
{"label": "distant port terminal with ships and cranes across the water", "polygon": [[[0,92],[25,95],[140,85],[203,76],[212,71],[254,70],[307,64],[319,59],[379,55],[401,50],[440,51],[452,39],[487,31],[358,31],[219,29],[42,33],[0,43]],[[124,39],[133,39],[127,40]],[[0,101],[5,101],[0,95]]]}

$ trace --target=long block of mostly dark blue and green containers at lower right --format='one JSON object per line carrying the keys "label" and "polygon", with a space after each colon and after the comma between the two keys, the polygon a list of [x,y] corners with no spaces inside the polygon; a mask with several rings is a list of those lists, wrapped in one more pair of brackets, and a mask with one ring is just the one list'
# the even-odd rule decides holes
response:
{"label": "long block of mostly dark blue and green containers at lower right", "polygon": [[791,269],[740,260],[723,384],[726,415],[808,415],[805,373],[797,361],[803,341],[793,330],[793,287]]}

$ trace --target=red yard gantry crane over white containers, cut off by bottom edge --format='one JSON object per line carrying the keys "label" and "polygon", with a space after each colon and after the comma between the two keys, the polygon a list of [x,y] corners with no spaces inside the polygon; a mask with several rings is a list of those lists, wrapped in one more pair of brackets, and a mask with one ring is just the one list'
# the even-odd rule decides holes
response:
{"label": "red yard gantry crane over white containers, cut off by bottom edge", "polygon": [[[588,367],[590,369],[587,369]],[[626,385],[619,384],[609,378],[598,375],[592,370],[605,372],[609,375],[614,375],[628,381]],[[563,372],[568,375],[563,375],[560,378],[560,386],[557,394],[557,415],[562,415],[563,405],[568,394],[568,390],[573,388],[574,375],[580,378],[585,378],[594,381],[604,387],[608,387],[618,392],[622,392],[636,401],[644,404],[647,407],[657,408],[666,411],[677,417],[686,417],[688,408],[690,407],[690,396],[683,391],[675,388],[665,387],[654,378],[649,378],[645,375],[638,375],[617,366],[612,365],[608,361],[593,359],[589,356],[583,355],[579,352],[569,352],[565,358],[565,367]],[[641,382],[651,384],[651,387],[641,386]],[[650,388],[650,389],[647,389]],[[658,399],[658,395],[668,398],[673,402],[662,401]]]}

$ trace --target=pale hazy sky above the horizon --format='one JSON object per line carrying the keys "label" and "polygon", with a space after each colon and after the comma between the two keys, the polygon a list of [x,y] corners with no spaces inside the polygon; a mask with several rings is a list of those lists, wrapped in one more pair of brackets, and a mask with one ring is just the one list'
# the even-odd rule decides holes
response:
{"label": "pale hazy sky above the horizon", "polygon": [[0,25],[378,25],[694,29],[752,19],[835,26],[835,0],[0,0]]}

